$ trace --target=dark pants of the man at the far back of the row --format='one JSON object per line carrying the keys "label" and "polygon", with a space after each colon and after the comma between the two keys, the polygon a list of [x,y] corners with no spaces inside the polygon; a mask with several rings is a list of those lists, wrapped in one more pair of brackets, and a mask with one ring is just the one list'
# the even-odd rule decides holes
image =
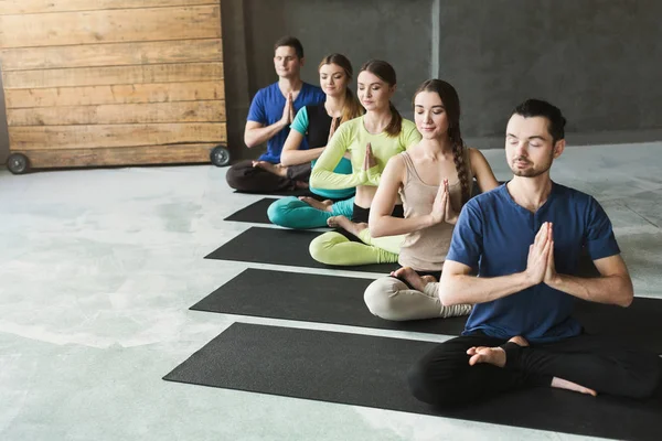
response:
{"label": "dark pants of the man at the far back of the row", "polygon": [[279,176],[264,169],[253,166],[253,161],[241,161],[227,170],[227,184],[246,193],[271,193],[295,190],[295,182],[310,180],[310,162],[287,168],[287,176]]}

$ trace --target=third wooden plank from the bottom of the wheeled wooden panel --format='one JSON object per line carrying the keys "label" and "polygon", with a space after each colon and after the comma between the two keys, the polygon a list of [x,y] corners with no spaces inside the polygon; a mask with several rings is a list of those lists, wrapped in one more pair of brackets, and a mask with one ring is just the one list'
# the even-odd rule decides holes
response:
{"label": "third wooden plank from the bottom of the wheeled wooden panel", "polygon": [[181,101],[7,109],[11,127],[154,122],[222,122],[225,101]]}

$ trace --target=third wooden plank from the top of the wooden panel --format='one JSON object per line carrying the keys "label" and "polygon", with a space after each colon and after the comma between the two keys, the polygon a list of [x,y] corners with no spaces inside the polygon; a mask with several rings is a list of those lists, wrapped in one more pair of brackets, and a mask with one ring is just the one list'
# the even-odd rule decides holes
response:
{"label": "third wooden plank from the top of the wooden panel", "polygon": [[7,49],[0,51],[0,61],[4,72],[62,67],[222,62],[223,46],[220,39],[211,39]]}

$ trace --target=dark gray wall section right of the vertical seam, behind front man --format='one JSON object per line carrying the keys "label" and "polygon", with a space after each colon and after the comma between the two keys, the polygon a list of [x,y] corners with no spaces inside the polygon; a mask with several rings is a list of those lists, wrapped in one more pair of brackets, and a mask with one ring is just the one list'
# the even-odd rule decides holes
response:
{"label": "dark gray wall section right of the vertical seam, behind front man", "polygon": [[445,0],[439,75],[469,137],[502,133],[527,97],[557,105],[569,132],[662,129],[661,15],[654,0]]}

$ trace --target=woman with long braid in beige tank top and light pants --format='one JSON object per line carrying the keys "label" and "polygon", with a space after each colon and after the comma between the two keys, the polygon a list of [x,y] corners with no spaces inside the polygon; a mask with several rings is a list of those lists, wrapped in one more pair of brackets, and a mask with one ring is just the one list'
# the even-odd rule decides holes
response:
{"label": "woman with long braid in beige tank top and light pants", "polygon": [[[473,178],[482,192],[499,184],[482,153],[465,147],[460,101],[450,84],[423,83],[414,95],[414,112],[423,140],[388,161],[369,223],[373,237],[406,235],[399,252],[403,268],[372,282],[365,304],[386,320],[466,315],[469,304],[441,304],[437,294],[441,267]],[[398,194],[404,219],[391,216]]]}

